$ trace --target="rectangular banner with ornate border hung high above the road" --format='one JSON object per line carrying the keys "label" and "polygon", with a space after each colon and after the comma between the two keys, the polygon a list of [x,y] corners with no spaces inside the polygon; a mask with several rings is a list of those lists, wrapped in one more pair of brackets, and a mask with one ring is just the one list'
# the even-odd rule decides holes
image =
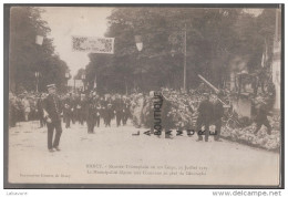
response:
{"label": "rectangular banner with ornate border hung high above the road", "polygon": [[114,53],[114,38],[72,37],[72,51]]}

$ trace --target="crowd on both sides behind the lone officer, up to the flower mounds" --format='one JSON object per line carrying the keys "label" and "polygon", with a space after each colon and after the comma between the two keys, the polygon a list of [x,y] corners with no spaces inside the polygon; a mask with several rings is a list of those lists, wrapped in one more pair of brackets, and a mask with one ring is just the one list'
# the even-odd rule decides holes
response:
{"label": "crowd on both sides behind the lone officer, up to the flower mounds", "polygon": [[[40,127],[45,124],[43,102],[47,93],[24,92],[20,95],[9,94],[9,126],[13,127],[18,122],[40,121]],[[126,125],[130,111],[130,97],[120,94],[97,95],[69,93],[58,94],[61,101],[61,116],[65,127],[71,123],[79,123],[89,126],[89,133],[93,133],[94,126],[100,126],[100,118],[103,118],[105,126],[111,126],[111,121],[116,120],[116,125]]]}

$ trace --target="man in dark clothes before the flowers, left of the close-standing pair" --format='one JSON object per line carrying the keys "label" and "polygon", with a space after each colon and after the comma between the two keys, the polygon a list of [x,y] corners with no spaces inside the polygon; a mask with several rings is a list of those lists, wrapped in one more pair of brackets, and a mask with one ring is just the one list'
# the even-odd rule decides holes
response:
{"label": "man in dark clothes before the flowers, left of the close-standing pair", "polygon": [[[213,105],[209,102],[209,96],[207,93],[203,93],[203,101],[199,103],[198,107],[198,117],[196,122],[196,132],[198,134],[197,141],[203,141],[203,134],[205,134],[205,142],[208,142],[209,137],[209,124]],[[202,132],[202,126],[205,127],[205,131]]]}

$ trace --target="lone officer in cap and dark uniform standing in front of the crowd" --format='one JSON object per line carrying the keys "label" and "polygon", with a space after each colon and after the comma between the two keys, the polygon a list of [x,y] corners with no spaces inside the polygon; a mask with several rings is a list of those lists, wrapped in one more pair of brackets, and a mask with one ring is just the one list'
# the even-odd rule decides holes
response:
{"label": "lone officer in cap and dark uniform standing in front of the crowd", "polygon": [[[60,151],[59,142],[62,133],[61,126],[61,101],[58,97],[56,87],[54,84],[47,86],[49,95],[43,102],[44,118],[47,120],[48,127],[48,149],[49,152]],[[53,133],[55,129],[55,137],[53,141]]]}

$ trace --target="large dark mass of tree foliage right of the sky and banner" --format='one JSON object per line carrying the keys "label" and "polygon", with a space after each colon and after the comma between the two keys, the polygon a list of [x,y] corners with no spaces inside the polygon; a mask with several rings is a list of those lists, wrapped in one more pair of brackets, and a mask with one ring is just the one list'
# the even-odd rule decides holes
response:
{"label": "large dark mass of tree foliage right of the sky and banner", "polygon": [[[197,74],[222,87],[235,56],[245,56],[251,72],[260,66],[264,43],[272,40],[271,12],[255,17],[243,9],[116,8],[105,34],[115,38],[115,54],[90,54],[88,80],[97,74],[101,91],[122,93],[181,89],[186,32],[187,87],[198,85]],[[141,52],[135,35],[142,35]]]}

